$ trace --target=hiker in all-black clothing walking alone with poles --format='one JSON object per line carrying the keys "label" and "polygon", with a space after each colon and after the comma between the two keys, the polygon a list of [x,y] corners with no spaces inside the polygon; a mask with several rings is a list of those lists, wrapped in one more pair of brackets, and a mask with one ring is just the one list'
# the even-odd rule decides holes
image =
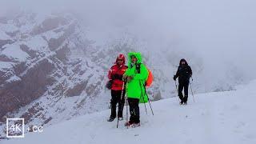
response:
{"label": "hiker in all-black clothing walking alone with poles", "polygon": [[[191,67],[187,64],[185,59],[179,62],[177,73],[174,75],[174,81],[178,78],[178,97],[181,99],[180,104],[185,104],[188,98],[190,77],[192,76]],[[182,90],[184,89],[185,96],[183,97]]]}

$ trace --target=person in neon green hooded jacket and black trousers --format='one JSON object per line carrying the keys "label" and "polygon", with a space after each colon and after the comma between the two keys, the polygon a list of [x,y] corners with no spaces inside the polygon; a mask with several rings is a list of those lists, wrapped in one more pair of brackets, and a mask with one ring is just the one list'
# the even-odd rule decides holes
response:
{"label": "person in neon green hooded jacket and black trousers", "polygon": [[126,79],[126,95],[130,106],[130,121],[126,126],[140,126],[139,102],[148,102],[145,91],[145,82],[149,73],[146,66],[142,63],[140,53],[128,54],[128,69],[123,78]]}

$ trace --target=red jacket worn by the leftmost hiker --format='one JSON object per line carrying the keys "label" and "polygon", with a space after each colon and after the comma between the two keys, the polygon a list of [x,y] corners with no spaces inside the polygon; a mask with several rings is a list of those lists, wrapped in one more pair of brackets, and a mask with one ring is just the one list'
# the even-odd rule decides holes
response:
{"label": "red jacket worn by the leftmost hiker", "polygon": [[[118,59],[122,59],[122,65],[118,66]],[[125,66],[126,58],[123,54],[119,54],[118,58],[116,59],[116,62],[114,66],[112,66],[109,70],[108,78],[113,80],[113,84],[111,87],[111,90],[122,90],[122,76],[126,72],[126,69],[128,68]]]}

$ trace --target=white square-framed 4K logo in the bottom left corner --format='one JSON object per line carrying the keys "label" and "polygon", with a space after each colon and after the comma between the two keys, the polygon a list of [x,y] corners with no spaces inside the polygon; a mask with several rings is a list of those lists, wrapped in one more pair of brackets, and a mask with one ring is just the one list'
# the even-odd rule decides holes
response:
{"label": "white square-framed 4K logo in the bottom left corner", "polygon": [[24,138],[24,118],[7,118],[6,125],[7,138]]}

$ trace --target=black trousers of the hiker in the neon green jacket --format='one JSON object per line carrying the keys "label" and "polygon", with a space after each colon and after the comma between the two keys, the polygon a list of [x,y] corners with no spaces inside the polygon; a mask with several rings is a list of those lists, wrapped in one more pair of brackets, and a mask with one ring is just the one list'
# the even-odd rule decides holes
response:
{"label": "black trousers of the hiker in the neon green jacket", "polygon": [[128,98],[130,107],[130,123],[139,123],[139,99],[138,98]]}

